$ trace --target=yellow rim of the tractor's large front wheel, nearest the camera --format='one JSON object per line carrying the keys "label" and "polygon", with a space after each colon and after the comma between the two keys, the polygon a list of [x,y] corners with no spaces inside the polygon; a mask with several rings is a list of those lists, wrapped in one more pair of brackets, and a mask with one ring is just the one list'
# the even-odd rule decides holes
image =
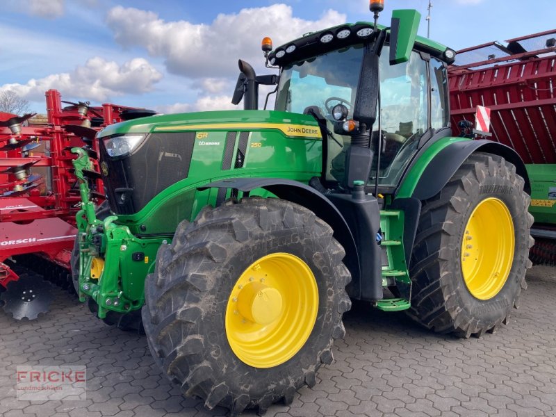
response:
{"label": "yellow rim of the tractor's large front wheel, nearest the camera", "polygon": [[272,368],[305,344],[317,317],[318,288],[297,256],[276,253],[241,274],[226,307],[226,336],[236,356],[254,368]]}

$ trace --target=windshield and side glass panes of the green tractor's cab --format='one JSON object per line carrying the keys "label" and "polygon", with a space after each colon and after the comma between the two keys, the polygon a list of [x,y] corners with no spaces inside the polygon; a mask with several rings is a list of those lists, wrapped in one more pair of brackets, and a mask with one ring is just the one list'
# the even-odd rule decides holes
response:
{"label": "windshield and side glass panes of the green tractor's cab", "polygon": [[[317,106],[327,122],[329,133],[323,138],[327,140],[323,161],[327,181],[342,184],[345,179],[345,155],[351,136],[334,133],[331,113],[336,104],[343,103],[349,112],[347,118],[352,117],[362,58],[363,47],[359,44],[301,61],[285,67],[281,73],[276,110],[305,113],[308,107]],[[427,63],[416,51],[406,63],[390,65],[389,46],[386,44],[382,49],[379,58],[382,132],[379,135],[377,120],[371,140],[375,154],[368,178],[370,183],[375,182],[378,167],[379,185],[395,186],[414,156],[418,139],[429,126],[427,71]],[[439,72],[436,78],[445,80],[441,75]],[[432,121],[437,128],[445,125],[446,112],[439,99],[444,91],[437,85],[434,90]],[[379,137],[382,138],[380,163],[376,153]]]}

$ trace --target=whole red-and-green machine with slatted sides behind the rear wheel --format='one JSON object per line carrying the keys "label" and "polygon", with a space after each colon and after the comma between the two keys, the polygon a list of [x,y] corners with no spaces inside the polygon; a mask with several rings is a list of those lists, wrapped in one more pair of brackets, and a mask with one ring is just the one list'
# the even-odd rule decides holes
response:
{"label": "whole red-and-green machine with slatted sides behind the rear wheel", "polygon": [[491,139],[512,147],[531,181],[534,263],[556,265],[556,29],[457,52],[448,68],[452,129],[490,112]]}

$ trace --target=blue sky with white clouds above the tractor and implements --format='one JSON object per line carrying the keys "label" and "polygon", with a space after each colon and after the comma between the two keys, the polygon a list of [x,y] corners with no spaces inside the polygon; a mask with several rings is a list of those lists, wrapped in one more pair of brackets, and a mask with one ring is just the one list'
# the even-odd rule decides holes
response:
{"label": "blue sky with white clouds above the tractor and implements", "polygon": [[[426,35],[428,0],[416,8]],[[434,0],[431,38],[454,49],[546,31],[556,1]],[[234,108],[237,61],[263,66],[261,38],[275,47],[303,33],[371,20],[367,0],[1,0],[0,89],[44,113],[44,92],[166,113]]]}

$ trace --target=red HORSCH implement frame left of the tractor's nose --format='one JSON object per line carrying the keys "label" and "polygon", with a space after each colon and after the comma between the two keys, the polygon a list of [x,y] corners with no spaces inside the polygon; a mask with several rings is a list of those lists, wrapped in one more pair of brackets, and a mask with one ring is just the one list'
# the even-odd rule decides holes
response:
{"label": "red HORSCH implement frame left of the tractor's nose", "polygon": [[[99,131],[108,124],[121,122],[120,113],[131,109],[116,104],[88,106],[86,111],[79,106],[63,106],[60,92],[46,92],[47,124],[21,126],[21,131],[13,133],[9,127],[0,127],[0,147],[14,140],[30,140],[44,145],[44,152],[22,156],[21,147],[0,151],[0,172],[9,167],[33,163],[33,170],[47,167],[47,177],[27,176],[17,179],[15,174],[0,173],[0,285],[17,280],[17,275],[4,261],[11,256],[40,254],[44,258],[70,269],[71,250],[77,233],[75,215],[79,210],[81,197],[73,174],[70,152],[72,147],[83,147],[78,136],[67,132],[63,126],[91,126]],[[8,120],[15,115],[0,114],[0,120]],[[95,123],[97,127],[95,127]],[[98,152],[98,144],[92,141],[92,150]],[[99,171],[94,161],[95,171]],[[30,181],[32,178],[33,181]],[[42,181],[42,183],[41,183]],[[100,203],[104,197],[101,179],[92,179],[91,186]],[[32,183],[31,183],[32,182]],[[22,192],[13,193],[19,186]],[[28,186],[28,188],[26,188]]]}

